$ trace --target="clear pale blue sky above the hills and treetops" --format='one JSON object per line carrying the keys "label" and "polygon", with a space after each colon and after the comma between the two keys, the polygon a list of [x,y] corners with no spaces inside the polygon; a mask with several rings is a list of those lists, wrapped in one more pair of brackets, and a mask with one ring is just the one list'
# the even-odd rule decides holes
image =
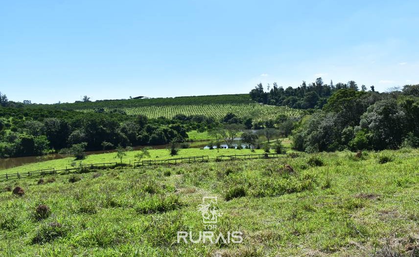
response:
{"label": "clear pale blue sky above the hills and treetops", "polygon": [[1,1],[9,100],[419,83],[419,1]]}

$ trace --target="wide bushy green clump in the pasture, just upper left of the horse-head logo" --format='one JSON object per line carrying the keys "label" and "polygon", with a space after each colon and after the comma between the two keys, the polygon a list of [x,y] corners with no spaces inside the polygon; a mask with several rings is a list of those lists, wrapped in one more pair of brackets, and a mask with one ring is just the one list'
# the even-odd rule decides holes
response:
{"label": "wide bushy green clump in the pasture, just upper left of the horse-head logo", "polygon": [[152,196],[137,205],[140,214],[164,213],[179,209],[183,204],[177,195]]}

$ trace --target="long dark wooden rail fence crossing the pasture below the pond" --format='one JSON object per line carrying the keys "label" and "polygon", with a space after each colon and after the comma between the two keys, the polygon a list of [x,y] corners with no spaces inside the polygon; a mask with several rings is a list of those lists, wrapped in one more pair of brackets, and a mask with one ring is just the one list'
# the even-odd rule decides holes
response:
{"label": "long dark wooden rail fence crossing the pasture below the pond", "polygon": [[[280,154],[278,153],[256,153],[256,154],[234,154],[234,155],[219,155],[215,158],[210,158],[208,155],[202,156],[189,156],[189,157],[179,157],[163,160],[142,160],[140,162],[134,162],[133,167],[138,166],[148,166],[148,165],[164,165],[164,164],[178,164],[178,163],[192,163],[192,162],[208,162],[213,161],[223,161],[223,160],[242,160],[242,159],[266,159],[266,158],[278,158]],[[0,180],[9,180],[9,179],[20,179],[25,177],[35,177],[35,176],[44,176],[48,174],[59,174],[69,171],[82,171],[83,168],[106,168],[110,166],[117,166],[117,162],[108,162],[108,163],[91,163],[85,164],[77,168],[67,167],[65,169],[56,170],[55,168],[37,170],[37,171],[28,171],[28,172],[17,172],[17,173],[5,173],[0,175]],[[131,160],[130,164],[131,166]]]}

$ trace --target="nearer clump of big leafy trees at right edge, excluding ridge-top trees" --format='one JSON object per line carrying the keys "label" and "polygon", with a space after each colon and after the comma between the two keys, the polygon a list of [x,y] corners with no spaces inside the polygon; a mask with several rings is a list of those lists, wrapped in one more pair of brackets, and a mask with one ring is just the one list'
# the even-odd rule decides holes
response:
{"label": "nearer clump of big leafy trees at right edge, excluding ridge-top trees", "polygon": [[419,85],[389,92],[342,88],[293,131],[293,148],[307,152],[419,147]]}

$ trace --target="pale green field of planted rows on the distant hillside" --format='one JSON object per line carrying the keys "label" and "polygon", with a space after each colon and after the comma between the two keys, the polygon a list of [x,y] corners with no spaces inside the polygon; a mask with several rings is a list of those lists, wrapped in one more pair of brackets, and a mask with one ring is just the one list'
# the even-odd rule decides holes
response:
{"label": "pale green field of planted rows on the distant hillside", "polygon": [[[105,107],[105,110],[112,108]],[[223,118],[227,113],[232,112],[243,118],[247,116],[254,117],[255,121],[263,118],[275,119],[279,114],[286,114],[289,117],[299,117],[302,111],[299,109],[291,109],[289,107],[267,106],[259,104],[200,104],[200,105],[172,105],[172,106],[144,106],[144,107],[123,107],[121,108],[127,114],[138,115],[144,114],[148,118],[166,117],[172,118],[176,114],[198,115],[214,117],[216,119]],[[93,109],[77,109],[80,111],[93,111]]]}

